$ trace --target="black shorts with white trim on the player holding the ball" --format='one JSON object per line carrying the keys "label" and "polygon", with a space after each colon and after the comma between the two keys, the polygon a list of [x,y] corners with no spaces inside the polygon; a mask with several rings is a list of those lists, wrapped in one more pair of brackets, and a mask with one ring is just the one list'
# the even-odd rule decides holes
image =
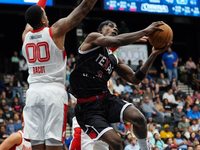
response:
{"label": "black shorts with white trim on the player holding the ball", "polygon": [[129,105],[132,104],[107,93],[102,99],[76,104],[75,115],[83,131],[98,140],[113,129],[110,123],[123,122],[123,112]]}

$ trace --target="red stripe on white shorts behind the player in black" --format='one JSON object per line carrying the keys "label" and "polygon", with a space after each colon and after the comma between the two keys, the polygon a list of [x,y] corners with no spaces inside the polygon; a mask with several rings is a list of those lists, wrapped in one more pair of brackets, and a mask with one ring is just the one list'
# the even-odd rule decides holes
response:
{"label": "red stripe on white shorts behind the player in black", "polygon": [[74,138],[71,143],[71,150],[81,150],[81,128],[74,128]]}

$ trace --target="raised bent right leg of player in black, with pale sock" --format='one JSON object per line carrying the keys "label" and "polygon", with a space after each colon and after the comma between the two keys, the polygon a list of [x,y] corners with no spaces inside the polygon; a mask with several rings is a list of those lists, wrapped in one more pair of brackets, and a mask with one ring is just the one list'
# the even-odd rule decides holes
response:
{"label": "raised bent right leg of player in black, with pale sock", "polygon": [[147,150],[147,123],[144,115],[134,106],[128,106],[123,112],[123,120],[133,124],[133,132],[138,138],[142,150]]}

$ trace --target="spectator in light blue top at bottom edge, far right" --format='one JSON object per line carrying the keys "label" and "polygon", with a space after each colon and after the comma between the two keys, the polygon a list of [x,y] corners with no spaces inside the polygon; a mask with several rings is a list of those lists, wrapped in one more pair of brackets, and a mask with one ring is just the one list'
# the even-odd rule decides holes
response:
{"label": "spectator in light blue top at bottom edge, far right", "polygon": [[174,145],[176,145],[178,149],[187,150],[188,142],[186,139],[181,137],[181,133],[179,131],[176,133],[173,141],[174,141]]}

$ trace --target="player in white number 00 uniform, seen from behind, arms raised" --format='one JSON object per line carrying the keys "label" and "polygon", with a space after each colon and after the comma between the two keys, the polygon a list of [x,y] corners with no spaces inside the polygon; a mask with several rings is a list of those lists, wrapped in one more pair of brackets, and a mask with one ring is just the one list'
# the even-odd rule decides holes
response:
{"label": "player in white number 00 uniform, seen from behind, arms raised", "polygon": [[83,0],[66,18],[48,28],[46,0],[29,7],[22,34],[22,52],[29,67],[24,137],[33,150],[60,150],[65,139],[67,93],[65,35],[93,8],[97,0]]}

